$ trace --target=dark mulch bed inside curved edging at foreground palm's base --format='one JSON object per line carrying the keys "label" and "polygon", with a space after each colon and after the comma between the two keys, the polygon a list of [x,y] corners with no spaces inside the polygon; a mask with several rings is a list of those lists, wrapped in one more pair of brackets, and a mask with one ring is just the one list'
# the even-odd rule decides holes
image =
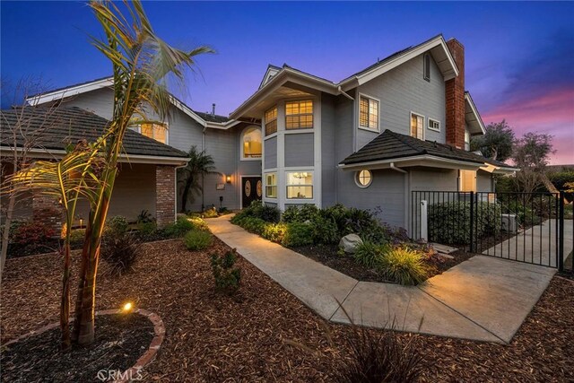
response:
{"label": "dark mulch bed inside curved edging at foreground palm's base", "polygon": [[[96,317],[98,333],[91,347],[59,350],[60,330],[26,337],[2,351],[4,381],[92,381],[98,374],[125,371],[148,349],[153,325],[138,314]],[[81,368],[78,368],[81,366]]]}

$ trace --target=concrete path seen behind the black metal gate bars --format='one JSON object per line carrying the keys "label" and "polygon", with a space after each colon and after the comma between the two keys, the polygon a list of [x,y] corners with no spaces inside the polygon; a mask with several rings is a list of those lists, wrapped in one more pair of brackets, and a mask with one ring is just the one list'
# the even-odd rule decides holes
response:
{"label": "concrete path seen behind the black metal gate bars", "polygon": [[[558,220],[546,220],[484,250],[483,254],[516,259],[535,265],[558,267],[556,259],[557,234]],[[569,256],[573,246],[572,220],[564,220],[564,260]]]}

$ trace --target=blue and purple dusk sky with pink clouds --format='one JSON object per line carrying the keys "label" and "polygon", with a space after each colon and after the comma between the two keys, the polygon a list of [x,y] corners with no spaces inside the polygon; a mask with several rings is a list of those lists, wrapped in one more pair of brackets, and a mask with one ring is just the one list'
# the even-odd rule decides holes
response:
{"label": "blue and purple dusk sky with pink clouds", "polygon": [[[574,3],[145,2],[158,34],[210,45],[187,90],[193,109],[227,115],[257,89],[267,64],[333,81],[443,33],[465,45],[466,89],[485,123],[554,135],[552,163],[574,163]],[[0,2],[1,74],[49,87],[111,73],[88,42],[100,28],[84,3]],[[5,100],[3,100],[5,107]]]}

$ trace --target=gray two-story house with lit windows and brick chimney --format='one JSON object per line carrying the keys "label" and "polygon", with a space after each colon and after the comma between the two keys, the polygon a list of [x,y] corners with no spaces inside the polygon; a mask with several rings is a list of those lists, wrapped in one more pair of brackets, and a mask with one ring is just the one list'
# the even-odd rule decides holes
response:
{"label": "gray two-story house with lit windows and brick chimney", "polygon": [[[112,87],[100,79],[28,101],[62,102],[110,118]],[[484,133],[483,121],[465,91],[464,47],[441,35],[338,83],[269,65],[259,89],[229,118],[197,112],[175,97],[172,109],[167,121],[134,129],[180,151],[196,145],[213,156],[221,175],[204,178],[203,195],[189,210],[239,209],[254,199],[282,210],[341,203],[380,207],[381,221],[407,228],[411,191],[492,191],[493,173],[514,171],[468,152],[470,137]],[[175,209],[181,205],[175,185],[171,195]]]}

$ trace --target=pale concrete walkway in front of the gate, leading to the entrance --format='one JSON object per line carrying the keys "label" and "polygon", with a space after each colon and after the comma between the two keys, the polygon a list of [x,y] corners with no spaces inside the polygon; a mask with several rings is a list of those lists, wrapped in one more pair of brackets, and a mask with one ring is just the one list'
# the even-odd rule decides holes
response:
{"label": "pale concrete walkway in front of the gate, leading to the entrance", "polygon": [[[430,335],[509,343],[554,269],[476,256],[417,287],[359,282],[229,222],[213,234],[323,318]],[[343,309],[339,307],[341,302]]]}

